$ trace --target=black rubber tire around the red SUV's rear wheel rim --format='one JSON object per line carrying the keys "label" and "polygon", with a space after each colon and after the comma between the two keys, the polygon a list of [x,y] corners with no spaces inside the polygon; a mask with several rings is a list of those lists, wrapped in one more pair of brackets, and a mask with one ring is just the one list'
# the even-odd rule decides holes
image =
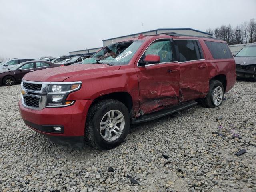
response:
{"label": "black rubber tire around the red SUV's rear wheel rim", "polygon": [[[215,105],[214,104],[214,99],[213,99],[213,92],[215,90],[215,88],[217,87],[221,87],[222,88],[222,92],[223,92],[223,96],[222,96],[222,100],[220,102],[220,104]],[[214,108],[214,107],[218,107],[221,106],[222,102],[223,102],[223,98],[224,98],[224,88],[223,85],[220,81],[218,80],[211,80],[210,81],[210,86],[209,86],[209,91],[207,96],[202,100],[202,106],[207,107],[207,108]]]}

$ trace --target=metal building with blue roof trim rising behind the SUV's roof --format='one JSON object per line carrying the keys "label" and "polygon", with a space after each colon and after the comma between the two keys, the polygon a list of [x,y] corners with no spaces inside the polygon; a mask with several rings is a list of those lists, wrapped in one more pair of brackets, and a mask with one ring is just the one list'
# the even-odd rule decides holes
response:
{"label": "metal building with blue roof trim rising behind the SUV's roof", "polygon": [[210,34],[210,33],[202,32],[202,31],[195,30],[192,28],[171,28],[171,29],[168,28],[168,29],[155,29],[155,30],[151,30],[151,31],[145,31],[145,32],[141,32],[141,33],[135,33],[135,34],[131,34],[131,35],[105,39],[105,40],[102,40],[102,42],[103,42],[103,47],[105,47],[112,43],[118,42],[120,40],[138,37],[140,34],[156,35],[156,34],[162,34],[162,33],[177,33],[177,34],[182,34],[182,35],[195,35],[195,36],[206,36],[206,37],[211,36],[212,37],[212,34]]}

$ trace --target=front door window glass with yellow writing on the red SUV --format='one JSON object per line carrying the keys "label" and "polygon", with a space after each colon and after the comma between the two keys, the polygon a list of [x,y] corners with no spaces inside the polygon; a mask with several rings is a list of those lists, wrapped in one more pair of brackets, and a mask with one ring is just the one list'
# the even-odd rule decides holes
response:
{"label": "front door window glass with yellow writing on the red SUV", "polygon": [[[158,55],[160,56],[160,63],[172,62],[172,48],[169,40],[153,42],[145,51],[146,55]],[[144,57],[145,57],[144,56]]]}

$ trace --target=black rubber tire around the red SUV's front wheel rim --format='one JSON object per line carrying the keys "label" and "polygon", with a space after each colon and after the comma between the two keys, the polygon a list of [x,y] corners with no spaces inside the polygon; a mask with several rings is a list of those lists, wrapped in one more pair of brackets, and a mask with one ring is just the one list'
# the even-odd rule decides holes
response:
{"label": "black rubber tire around the red SUV's front wheel rim", "polygon": [[[124,116],[124,129],[122,134],[114,141],[106,141],[100,133],[100,122],[110,110],[118,110]],[[120,101],[106,99],[94,104],[88,111],[85,127],[85,139],[92,147],[108,150],[118,146],[124,141],[130,128],[130,114],[127,107]]]}

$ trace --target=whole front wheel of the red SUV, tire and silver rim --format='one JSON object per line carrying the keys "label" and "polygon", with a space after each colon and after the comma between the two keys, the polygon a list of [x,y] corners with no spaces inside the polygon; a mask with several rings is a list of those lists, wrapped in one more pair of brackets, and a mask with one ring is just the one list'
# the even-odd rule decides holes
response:
{"label": "whole front wheel of the red SUV, tire and silver rim", "polygon": [[130,114],[120,101],[106,99],[88,112],[85,138],[90,145],[108,150],[118,146],[128,134]]}

